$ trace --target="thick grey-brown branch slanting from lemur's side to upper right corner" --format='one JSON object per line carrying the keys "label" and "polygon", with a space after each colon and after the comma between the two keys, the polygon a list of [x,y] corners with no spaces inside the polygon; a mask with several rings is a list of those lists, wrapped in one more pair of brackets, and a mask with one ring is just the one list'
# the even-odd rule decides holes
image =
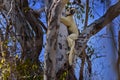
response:
{"label": "thick grey-brown branch slanting from lemur's side to upper right corner", "polygon": [[79,47],[79,54],[80,55],[83,50],[86,48],[86,43],[88,42],[89,38],[100,31],[105,25],[110,23],[113,19],[120,15],[120,1],[117,2],[115,5],[111,6],[107,12],[98,20],[94,21],[90,25],[87,26],[85,30],[79,36],[77,41],[77,46]]}

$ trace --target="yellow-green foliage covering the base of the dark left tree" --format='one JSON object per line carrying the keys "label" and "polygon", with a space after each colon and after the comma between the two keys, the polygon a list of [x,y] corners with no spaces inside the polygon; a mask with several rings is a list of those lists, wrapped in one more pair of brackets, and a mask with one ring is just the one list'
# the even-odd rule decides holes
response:
{"label": "yellow-green foliage covering the base of the dark left tree", "polygon": [[[9,42],[1,41],[1,48],[8,50]],[[17,80],[43,80],[43,71],[39,63],[31,62],[29,58],[21,60],[18,54],[8,56],[8,52],[1,51],[0,57],[0,79],[11,80],[16,78]]]}

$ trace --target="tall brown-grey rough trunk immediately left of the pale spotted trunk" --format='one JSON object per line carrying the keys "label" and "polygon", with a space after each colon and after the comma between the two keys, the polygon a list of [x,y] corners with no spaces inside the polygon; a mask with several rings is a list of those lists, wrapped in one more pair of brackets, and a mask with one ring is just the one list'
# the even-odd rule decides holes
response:
{"label": "tall brown-grey rough trunk immediately left of the pale spotted trunk", "polygon": [[54,0],[47,3],[47,42],[45,47],[44,80],[56,79],[56,51],[61,12],[68,0]]}

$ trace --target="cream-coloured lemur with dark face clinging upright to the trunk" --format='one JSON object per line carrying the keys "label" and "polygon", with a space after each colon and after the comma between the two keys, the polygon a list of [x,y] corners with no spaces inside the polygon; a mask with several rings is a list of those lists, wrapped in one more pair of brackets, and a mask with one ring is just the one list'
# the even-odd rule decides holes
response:
{"label": "cream-coloured lemur with dark face clinging upright to the trunk", "polygon": [[69,53],[69,65],[72,65],[74,62],[74,56],[75,56],[75,40],[78,39],[78,28],[74,22],[73,15],[75,13],[74,8],[67,8],[65,11],[65,17],[61,16],[60,22],[63,23],[69,32],[69,35],[67,36],[67,42],[68,42],[68,47],[70,48]]}

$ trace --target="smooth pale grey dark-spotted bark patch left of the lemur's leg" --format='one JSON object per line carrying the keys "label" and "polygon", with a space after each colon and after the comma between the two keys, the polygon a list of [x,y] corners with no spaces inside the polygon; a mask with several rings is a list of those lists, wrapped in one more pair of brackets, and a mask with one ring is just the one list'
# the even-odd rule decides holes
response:
{"label": "smooth pale grey dark-spotted bark patch left of the lemur's leg", "polygon": [[56,53],[56,72],[64,68],[67,61],[67,41],[68,36],[67,28],[62,23],[59,27],[58,38],[57,38],[57,53]]}

